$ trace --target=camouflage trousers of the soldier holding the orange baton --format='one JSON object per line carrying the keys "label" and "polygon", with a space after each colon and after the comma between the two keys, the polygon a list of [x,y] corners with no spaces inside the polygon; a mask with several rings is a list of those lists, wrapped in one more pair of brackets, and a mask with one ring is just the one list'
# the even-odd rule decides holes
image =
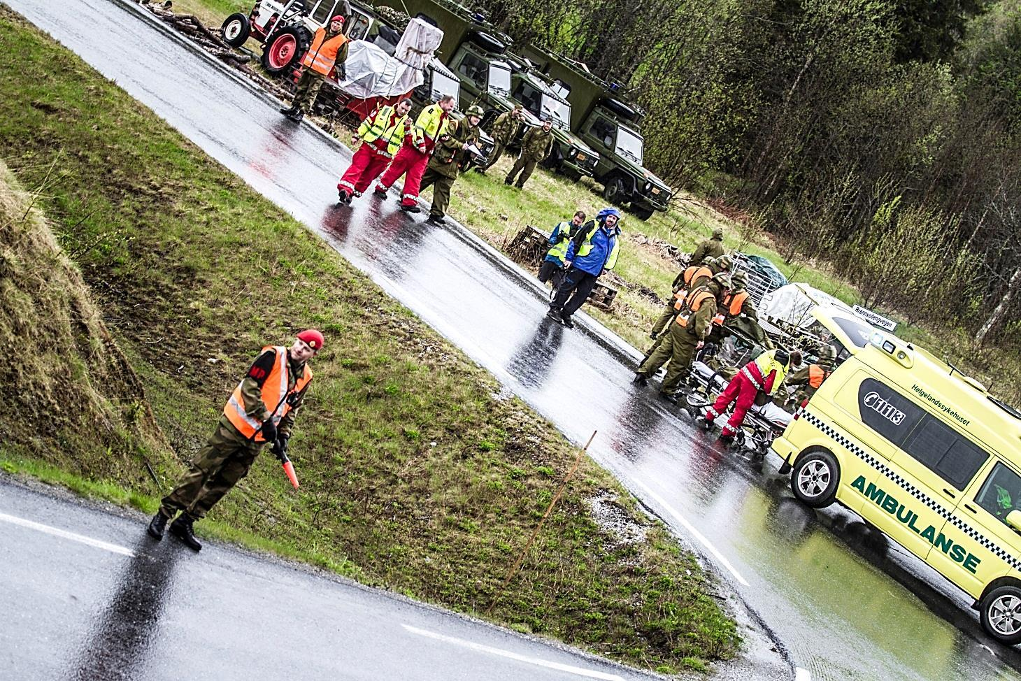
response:
{"label": "camouflage trousers of the soldier holding the orange baton", "polygon": [[196,520],[203,518],[248,475],[248,469],[264,444],[250,442],[234,428],[221,423],[205,446],[199,449],[188,473],[174,491],[163,497],[159,513],[174,518],[183,510]]}

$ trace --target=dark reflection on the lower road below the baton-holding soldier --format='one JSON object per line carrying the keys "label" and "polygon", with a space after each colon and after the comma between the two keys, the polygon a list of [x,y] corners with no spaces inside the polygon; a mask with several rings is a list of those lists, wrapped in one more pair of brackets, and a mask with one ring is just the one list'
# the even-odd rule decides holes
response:
{"label": "dark reflection on the lower road below the baton-holding soldier", "polygon": [[174,597],[175,566],[183,554],[180,546],[145,536],[132,548],[135,556],[120,570],[115,593],[72,663],[75,681],[146,677],[149,648],[157,640],[163,606]]}

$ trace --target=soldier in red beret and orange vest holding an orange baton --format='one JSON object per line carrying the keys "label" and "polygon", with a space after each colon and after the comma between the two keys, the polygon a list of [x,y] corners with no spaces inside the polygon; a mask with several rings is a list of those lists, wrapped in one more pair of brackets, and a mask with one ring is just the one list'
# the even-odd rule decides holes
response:
{"label": "soldier in red beret and orange vest holding an orange baton", "polygon": [[323,347],[323,334],[308,329],[291,347],[266,346],[234,389],[224,406],[216,430],[202,447],[180,484],[163,497],[149,522],[149,535],[163,537],[167,521],[171,534],[193,550],[202,544],[192,525],[205,517],[238,481],[248,475],[255,457],[271,442],[286,455],[294,416],[312,380],[308,359]]}

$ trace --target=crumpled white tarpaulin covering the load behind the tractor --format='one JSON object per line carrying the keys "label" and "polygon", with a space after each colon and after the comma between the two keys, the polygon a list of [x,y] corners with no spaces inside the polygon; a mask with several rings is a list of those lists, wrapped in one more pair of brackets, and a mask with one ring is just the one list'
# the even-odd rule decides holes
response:
{"label": "crumpled white tarpaulin covering the load behind the tractor", "polygon": [[411,19],[391,57],[374,43],[355,40],[348,43],[344,70],[347,78],[338,83],[356,99],[396,97],[425,83],[424,69],[443,40],[443,32],[422,19]]}

